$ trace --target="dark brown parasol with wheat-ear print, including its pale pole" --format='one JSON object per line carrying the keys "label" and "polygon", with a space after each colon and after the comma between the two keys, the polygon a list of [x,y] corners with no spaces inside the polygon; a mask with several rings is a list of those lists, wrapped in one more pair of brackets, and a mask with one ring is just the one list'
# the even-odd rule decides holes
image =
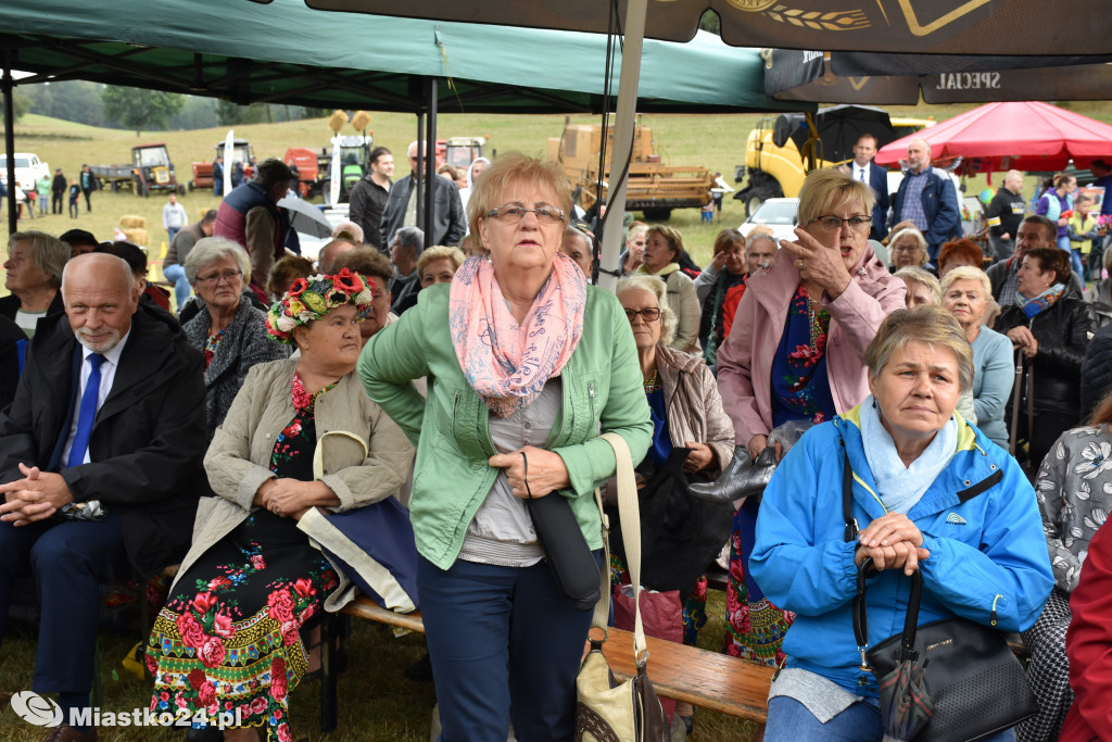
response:
{"label": "dark brown parasol with wheat-ear print, including its pale pole", "polygon": [[[269,2],[269,0],[256,0]],[[612,171],[633,145],[638,60],[646,38],[686,41],[703,13],[717,13],[722,38],[735,46],[870,50],[905,53],[1007,55],[1023,39],[1026,55],[1108,52],[1109,16],[1101,3],[1062,0],[1046,13],[1040,0],[305,0],[320,10],[506,23],[527,28],[624,33]],[[619,30],[619,24],[624,29]],[[1037,31],[1037,32],[1035,32]],[[646,79],[647,75],[646,75]],[[625,205],[626,180],[610,184],[612,210]],[[603,233],[599,284],[617,275],[616,230]]]}

